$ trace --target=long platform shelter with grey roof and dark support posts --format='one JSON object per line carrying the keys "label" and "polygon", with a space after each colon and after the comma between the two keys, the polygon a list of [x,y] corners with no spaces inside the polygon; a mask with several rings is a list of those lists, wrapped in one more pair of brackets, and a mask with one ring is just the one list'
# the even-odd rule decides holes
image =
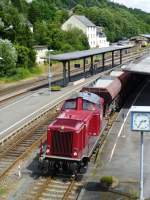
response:
{"label": "long platform shelter with grey roof and dark support posts", "polygon": [[[101,56],[100,62],[101,62],[101,69],[102,71],[105,68],[105,55],[106,53],[110,53],[110,61],[111,66],[115,66],[115,52],[118,52],[120,62],[119,64],[122,64],[122,55],[123,50],[128,50],[134,48],[133,45],[126,45],[126,46],[110,46],[105,48],[96,48],[96,49],[90,49],[90,50],[84,50],[84,51],[75,51],[75,52],[69,52],[69,53],[63,53],[58,55],[51,55],[50,59],[53,61],[59,61],[63,64],[63,85],[65,86],[68,82],[71,81],[71,70],[70,70],[70,62],[71,61],[78,61],[83,60],[83,75],[86,74],[86,61],[90,60],[89,64],[89,71],[90,74],[95,74],[95,60],[94,56]],[[47,58],[48,59],[48,58]],[[80,64],[76,64],[76,67],[80,67]]]}

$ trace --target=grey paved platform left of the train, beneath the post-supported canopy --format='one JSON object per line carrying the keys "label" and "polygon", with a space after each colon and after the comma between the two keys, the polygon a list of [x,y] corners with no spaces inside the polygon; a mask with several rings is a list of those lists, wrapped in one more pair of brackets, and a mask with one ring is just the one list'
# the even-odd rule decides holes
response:
{"label": "grey paved platform left of the train, beneath the post-supported canopy", "polygon": [[39,89],[30,95],[0,108],[0,140],[7,137],[14,130],[29,122],[44,110],[52,108],[62,102],[72,93],[92,82],[106,72],[86,78],[82,83],[70,84],[61,91],[51,92],[47,88]]}

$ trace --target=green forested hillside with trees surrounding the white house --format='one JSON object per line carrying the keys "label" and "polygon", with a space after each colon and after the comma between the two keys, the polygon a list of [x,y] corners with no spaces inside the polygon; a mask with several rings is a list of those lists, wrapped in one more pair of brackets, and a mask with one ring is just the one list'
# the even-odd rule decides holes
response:
{"label": "green forested hillside with trees surrounding the white house", "polygon": [[[88,49],[87,38],[80,30],[64,32],[60,28],[74,13],[103,26],[110,42],[150,33],[150,14],[108,0],[0,0],[0,77],[18,73],[21,68],[31,69],[34,45],[48,45],[55,52]],[[10,52],[4,54],[4,49]]]}

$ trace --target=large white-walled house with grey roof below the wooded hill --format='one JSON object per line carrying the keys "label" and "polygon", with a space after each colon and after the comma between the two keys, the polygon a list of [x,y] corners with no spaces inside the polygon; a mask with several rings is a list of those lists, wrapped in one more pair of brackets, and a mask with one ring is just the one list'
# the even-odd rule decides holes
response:
{"label": "large white-walled house with grey roof below the wooded hill", "polygon": [[83,15],[72,15],[63,25],[62,30],[68,31],[73,28],[78,28],[86,34],[90,48],[108,47],[106,35],[103,28],[96,26],[88,18]]}

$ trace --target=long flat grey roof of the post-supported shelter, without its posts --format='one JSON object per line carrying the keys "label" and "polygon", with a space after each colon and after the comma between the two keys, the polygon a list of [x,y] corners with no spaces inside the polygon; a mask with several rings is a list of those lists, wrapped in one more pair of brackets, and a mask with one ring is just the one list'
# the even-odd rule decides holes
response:
{"label": "long flat grey roof of the post-supported shelter, without its posts", "polygon": [[[84,51],[74,51],[69,53],[63,53],[58,55],[51,55],[51,60],[56,61],[69,61],[69,60],[78,60],[81,58],[87,58],[90,56],[95,56],[107,52],[113,52],[123,49],[129,49],[132,48],[133,45],[125,45],[125,46],[110,46],[110,47],[104,47],[104,48],[97,48],[97,49],[90,49],[90,50],[84,50]],[[48,58],[47,58],[48,59]]]}

